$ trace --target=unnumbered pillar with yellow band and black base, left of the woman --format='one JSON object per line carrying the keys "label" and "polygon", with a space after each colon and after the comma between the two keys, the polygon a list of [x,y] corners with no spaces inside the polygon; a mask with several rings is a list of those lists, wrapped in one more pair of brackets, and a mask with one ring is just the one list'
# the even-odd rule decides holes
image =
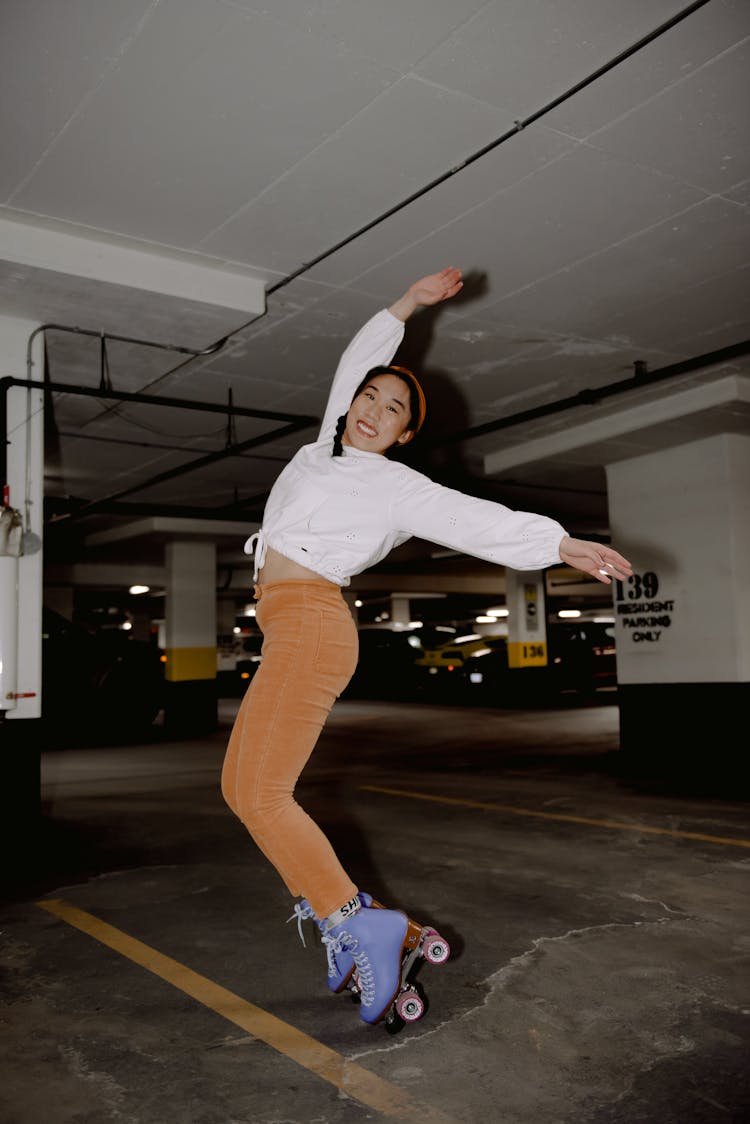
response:
{"label": "unnumbered pillar with yellow band and black base, left of the woman", "polygon": [[166,545],[164,727],[171,734],[216,728],[216,546]]}

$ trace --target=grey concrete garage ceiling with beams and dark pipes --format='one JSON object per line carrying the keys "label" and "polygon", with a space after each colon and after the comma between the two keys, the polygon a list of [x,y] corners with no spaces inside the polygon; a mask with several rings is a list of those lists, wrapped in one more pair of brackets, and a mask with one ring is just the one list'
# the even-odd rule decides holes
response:
{"label": "grey concrete garage ceiling with beams and dark pipes", "polygon": [[750,432],[747,0],[3,0],[0,30],[0,315],[55,383],[282,415],[55,392],[46,551],[220,517],[242,565],[351,335],[449,264],[399,353],[435,479],[606,536],[606,463]]}

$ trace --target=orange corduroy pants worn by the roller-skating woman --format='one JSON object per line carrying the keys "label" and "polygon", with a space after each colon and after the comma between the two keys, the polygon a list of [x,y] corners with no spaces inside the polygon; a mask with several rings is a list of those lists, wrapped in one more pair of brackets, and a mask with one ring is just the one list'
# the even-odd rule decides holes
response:
{"label": "orange corduroy pants worn by the roller-skating woman", "polygon": [[222,792],[288,890],[327,917],[356,886],[295,786],[356,667],[356,625],[325,580],[255,587],[262,660],[229,737]]}

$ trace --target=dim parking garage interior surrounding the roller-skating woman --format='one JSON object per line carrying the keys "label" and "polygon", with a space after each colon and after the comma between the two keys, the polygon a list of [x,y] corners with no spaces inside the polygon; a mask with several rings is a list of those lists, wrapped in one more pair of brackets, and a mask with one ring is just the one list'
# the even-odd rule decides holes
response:
{"label": "dim parking garage interior surrounding the roller-skating woman", "polygon": [[[746,1124],[747,3],[0,33],[0,1124]],[[344,588],[296,795],[450,949],[368,1025],[220,772],[244,544],[347,342],[445,265],[398,456],[634,572],[412,538]]]}

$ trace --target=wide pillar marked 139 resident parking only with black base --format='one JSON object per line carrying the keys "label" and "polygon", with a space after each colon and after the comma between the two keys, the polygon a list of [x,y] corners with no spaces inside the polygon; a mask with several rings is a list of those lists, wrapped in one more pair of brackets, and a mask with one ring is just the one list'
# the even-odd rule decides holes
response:
{"label": "wide pillar marked 139 resident parking only with black base", "polygon": [[[702,792],[747,789],[750,437],[719,434],[607,466],[621,749]],[[735,732],[740,732],[737,736]]]}

